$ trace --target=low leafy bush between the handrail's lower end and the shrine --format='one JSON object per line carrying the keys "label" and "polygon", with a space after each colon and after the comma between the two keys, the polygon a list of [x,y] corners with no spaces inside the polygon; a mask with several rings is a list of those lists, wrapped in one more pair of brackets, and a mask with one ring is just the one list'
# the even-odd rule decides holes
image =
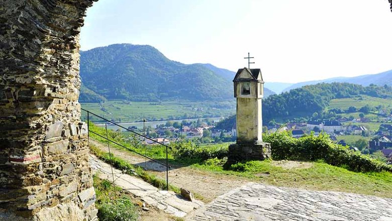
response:
{"label": "low leafy bush between the handrail's lower end and the shrine", "polygon": [[190,158],[205,161],[212,158],[223,159],[227,157],[228,145],[196,146],[189,141],[171,144],[173,156],[176,159]]}

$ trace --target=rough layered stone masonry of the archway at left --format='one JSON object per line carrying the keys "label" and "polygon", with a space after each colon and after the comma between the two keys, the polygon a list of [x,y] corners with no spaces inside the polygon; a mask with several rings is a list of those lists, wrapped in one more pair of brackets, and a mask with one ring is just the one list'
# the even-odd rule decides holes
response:
{"label": "rough layered stone masonry of the archway at left", "polygon": [[79,33],[91,0],[0,0],[0,220],[96,220]]}

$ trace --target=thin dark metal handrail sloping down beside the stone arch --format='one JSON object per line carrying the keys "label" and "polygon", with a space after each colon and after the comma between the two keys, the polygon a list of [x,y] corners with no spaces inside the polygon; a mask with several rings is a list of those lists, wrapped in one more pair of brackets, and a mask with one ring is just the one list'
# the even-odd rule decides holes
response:
{"label": "thin dark metal handrail sloping down beside the stone arch", "polygon": [[[99,136],[99,137],[101,137],[101,138],[104,138],[104,139],[106,139],[106,140],[108,140],[108,141],[110,141],[110,142],[112,142],[112,143],[114,143],[114,144],[116,144],[116,145],[118,145],[118,146],[120,146],[120,147],[122,147],[122,148],[125,148],[125,149],[127,149],[127,150],[129,150],[129,151],[131,151],[131,152],[134,152],[134,153],[136,153],[136,154],[139,154],[140,156],[143,156],[143,157],[145,157],[145,158],[147,158],[147,159],[149,159],[149,160],[152,160],[152,161],[154,161],[154,162],[156,162],[156,163],[158,163],[158,164],[160,164],[160,165],[165,166],[165,167],[166,167],[166,190],[167,190],[167,191],[169,190],[169,168],[171,168],[171,167],[169,166],[169,163],[168,163],[168,153],[167,153],[167,149],[169,148],[169,149],[171,150],[171,147],[169,147],[169,146],[167,146],[167,145],[165,145],[165,144],[162,144],[162,143],[160,143],[160,142],[158,142],[158,141],[155,141],[155,140],[153,140],[153,139],[151,139],[151,138],[149,138],[149,137],[146,137],[146,136],[144,136],[144,135],[141,135],[141,134],[139,134],[139,133],[137,133],[137,132],[135,132],[135,131],[129,130],[128,128],[124,128],[123,126],[118,125],[118,124],[116,124],[116,123],[114,123],[114,122],[112,122],[112,121],[110,121],[110,120],[108,120],[108,119],[105,119],[105,118],[101,117],[101,116],[98,116],[98,115],[96,115],[96,114],[94,114],[94,113],[92,113],[92,112],[90,112],[90,111],[88,111],[88,110],[86,110],[86,109],[83,109],[83,108],[81,108],[81,109],[82,109],[82,111],[87,112],[88,138],[89,138],[89,133],[91,132],[91,133],[93,133],[93,134],[95,134],[95,135],[97,135],[97,136]],[[161,163],[161,162],[159,162],[159,161],[157,161],[157,160],[154,160],[154,159],[152,159],[152,158],[150,158],[150,157],[148,157],[148,156],[146,156],[146,155],[143,155],[143,154],[138,153],[138,152],[136,152],[136,151],[134,151],[134,150],[132,150],[132,149],[129,149],[129,148],[127,148],[127,147],[125,147],[125,146],[123,146],[123,145],[121,145],[121,144],[119,144],[119,143],[117,143],[117,142],[115,142],[115,141],[112,141],[112,140],[110,140],[109,138],[106,138],[106,137],[104,137],[104,136],[102,136],[102,135],[100,135],[100,134],[97,134],[97,133],[95,133],[95,132],[93,132],[93,131],[90,131],[90,127],[89,127],[89,123],[90,123],[90,118],[89,118],[89,116],[90,116],[90,115],[89,115],[89,114],[92,114],[92,115],[94,115],[95,117],[101,118],[101,119],[104,120],[104,121],[110,122],[110,123],[112,123],[112,124],[114,124],[114,125],[116,125],[116,126],[118,126],[118,127],[120,127],[120,128],[123,128],[123,129],[125,129],[125,130],[127,130],[127,131],[129,131],[129,132],[132,132],[132,133],[134,133],[134,134],[137,134],[137,135],[139,135],[139,136],[141,136],[141,137],[144,137],[144,138],[146,138],[146,139],[148,139],[148,140],[151,140],[151,141],[153,141],[153,142],[155,142],[155,143],[157,143],[157,144],[160,144],[160,145],[166,147],[166,165],[165,165],[164,163]]]}

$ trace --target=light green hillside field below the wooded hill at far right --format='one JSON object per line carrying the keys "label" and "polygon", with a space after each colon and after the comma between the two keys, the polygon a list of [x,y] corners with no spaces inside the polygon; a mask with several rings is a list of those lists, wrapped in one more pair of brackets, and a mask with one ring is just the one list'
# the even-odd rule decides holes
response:
{"label": "light green hillside field below the wooded hill at far right", "polygon": [[392,99],[384,99],[379,97],[371,97],[367,95],[361,95],[361,97],[353,97],[353,98],[340,98],[340,99],[332,99],[329,103],[329,109],[333,108],[341,108],[348,109],[350,106],[355,106],[356,108],[361,108],[369,104],[371,106],[392,106]]}

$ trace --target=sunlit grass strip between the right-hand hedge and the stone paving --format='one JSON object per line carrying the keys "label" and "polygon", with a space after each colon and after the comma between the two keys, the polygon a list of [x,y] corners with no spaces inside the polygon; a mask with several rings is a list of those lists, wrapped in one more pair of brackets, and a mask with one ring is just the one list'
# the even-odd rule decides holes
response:
{"label": "sunlit grass strip between the right-hand hedge and the stone paving", "polygon": [[192,167],[218,174],[247,177],[275,186],[392,197],[390,172],[358,173],[323,162],[315,162],[307,169],[284,169],[274,166],[271,160],[249,161],[246,164],[246,171],[224,170],[220,165],[194,164]]}

